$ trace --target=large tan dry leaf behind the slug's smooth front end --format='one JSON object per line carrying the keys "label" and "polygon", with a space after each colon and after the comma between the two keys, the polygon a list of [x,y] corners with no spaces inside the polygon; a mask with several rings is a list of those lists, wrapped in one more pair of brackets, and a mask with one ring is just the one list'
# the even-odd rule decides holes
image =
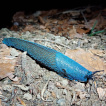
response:
{"label": "large tan dry leaf behind the slug's smooth front end", "polygon": [[76,50],[68,49],[65,55],[90,71],[104,70],[106,73],[106,63],[100,57],[94,55],[90,50],[85,51],[80,48]]}

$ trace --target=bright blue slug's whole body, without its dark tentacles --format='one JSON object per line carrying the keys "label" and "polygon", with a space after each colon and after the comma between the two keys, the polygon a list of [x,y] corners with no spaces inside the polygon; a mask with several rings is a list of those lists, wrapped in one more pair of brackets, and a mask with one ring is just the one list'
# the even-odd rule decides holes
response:
{"label": "bright blue slug's whole body, without its dark tentacles", "polygon": [[4,38],[3,43],[21,51],[27,51],[36,61],[69,80],[86,82],[93,75],[93,72],[64,54],[40,44],[18,38]]}

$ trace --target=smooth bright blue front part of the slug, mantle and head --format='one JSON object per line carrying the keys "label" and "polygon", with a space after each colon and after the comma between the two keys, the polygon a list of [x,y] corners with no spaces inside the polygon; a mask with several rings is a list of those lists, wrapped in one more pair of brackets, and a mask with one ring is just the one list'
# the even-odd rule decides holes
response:
{"label": "smooth bright blue front part of the slug, mantle and head", "polygon": [[56,54],[56,64],[59,69],[58,73],[69,80],[87,82],[93,75],[93,72],[59,52]]}

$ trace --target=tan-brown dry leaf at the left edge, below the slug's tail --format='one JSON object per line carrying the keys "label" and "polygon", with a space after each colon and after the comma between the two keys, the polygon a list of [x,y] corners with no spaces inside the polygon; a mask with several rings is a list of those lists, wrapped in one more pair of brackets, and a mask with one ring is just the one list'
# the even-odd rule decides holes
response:
{"label": "tan-brown dry leaf at the left edge, below the slug's tail", "polygon": [[16,58],[10,57],[10,49],[0,50],[0,79],[10,76],[14,73]]}

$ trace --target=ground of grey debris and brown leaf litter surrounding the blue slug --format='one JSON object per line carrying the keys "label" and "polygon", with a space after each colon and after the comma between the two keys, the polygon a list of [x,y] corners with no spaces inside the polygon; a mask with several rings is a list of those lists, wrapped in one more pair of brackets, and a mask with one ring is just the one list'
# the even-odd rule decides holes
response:
{"label": "ground of grey debris and brown leaf litter surrounding the blue slug", "polygon": [[11,30],[1,29],[1,38],[5,35],[35,41],[66,54],[90,71],[104,71],[87,84],[69,81],[41,67],[26,52],[20,54],[1,43],[0,104],[105,105],[106,33],[92,37],[87,34],[96,20],[94,31],[106,30],[106,10],[93,8],[14,14]]}

